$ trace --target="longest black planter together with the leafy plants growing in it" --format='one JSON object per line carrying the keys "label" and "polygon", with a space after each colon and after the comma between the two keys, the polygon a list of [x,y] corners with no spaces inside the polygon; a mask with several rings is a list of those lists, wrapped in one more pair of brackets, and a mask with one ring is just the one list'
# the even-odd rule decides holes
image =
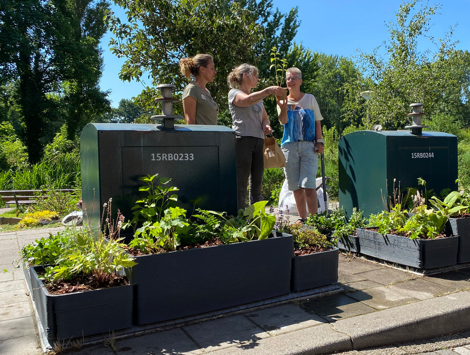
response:
{"label": "longest black planter together with the leafy plants growing in it", "polygon": [[[148,324],[223,309],[290,292],[291,235],[272,232],[275,217],[257,202],[237,216],[176,207],[176,187],[158,174],[141,178],[128,270],[134,322]],[[140,227],[141,226],[141,227]],[[158,307],[155,302],[158,300]]]}

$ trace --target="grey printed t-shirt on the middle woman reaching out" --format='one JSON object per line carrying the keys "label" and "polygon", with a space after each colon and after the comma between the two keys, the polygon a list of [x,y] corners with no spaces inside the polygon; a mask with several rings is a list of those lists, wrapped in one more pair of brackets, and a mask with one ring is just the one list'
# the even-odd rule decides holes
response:
{"label": "grey printed t-shirt on the middle woman reaching out", "polygon": [[232,129],[238,136],[249,136],[264,139],[263,101],[247,107],[236,106],[233,103],[235,96],[242,93],[239,89],[228,92],[228,108],[232,114]]}

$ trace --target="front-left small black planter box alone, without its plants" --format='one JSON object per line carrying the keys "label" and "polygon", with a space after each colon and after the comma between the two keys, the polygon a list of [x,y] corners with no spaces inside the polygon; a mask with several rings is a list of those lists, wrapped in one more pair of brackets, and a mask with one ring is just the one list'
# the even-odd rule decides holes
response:
{"label": "front-left small black planter box alone, without its plants", "polygon": [[49,341],[111,332],[132,325],[133,286],[52,295],[31,266],[34,304]]}

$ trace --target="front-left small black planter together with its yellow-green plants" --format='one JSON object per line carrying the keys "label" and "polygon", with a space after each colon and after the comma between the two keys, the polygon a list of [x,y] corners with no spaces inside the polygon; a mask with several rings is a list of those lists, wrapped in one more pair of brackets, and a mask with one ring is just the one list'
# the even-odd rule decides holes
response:
{"label": "front-left small black planter together with its yellow-green plants", "polygon": [[122,249],[122,217],[113,225],[110,203],[107,211],[100,235],[73,229],[75,243],[55,265],[31,267],[34,303],[50,342],[132,325],[133,286],[119,271],[135,262]]}

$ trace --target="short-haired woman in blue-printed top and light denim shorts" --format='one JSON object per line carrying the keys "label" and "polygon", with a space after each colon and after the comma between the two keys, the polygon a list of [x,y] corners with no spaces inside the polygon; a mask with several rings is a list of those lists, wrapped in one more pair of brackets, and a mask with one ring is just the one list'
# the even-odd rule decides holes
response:
{"label": "short-haired woman in blue-printed top and light denim shorts", "polygon": [[[302,72],[298,68],[286,71],[289,89],[287,102],[277,101],[279,122],[284,125],[281,148],[286,156],[284,174],[289,190],[294,194],[299,219],[303,224],[309,214],[318,211],[316,177],[318,154],[323,153],[325,141],[321,139],[323,119],[317,100],[312,94],[300,92]],[[306,202],[306,206],[305,206]]]}

